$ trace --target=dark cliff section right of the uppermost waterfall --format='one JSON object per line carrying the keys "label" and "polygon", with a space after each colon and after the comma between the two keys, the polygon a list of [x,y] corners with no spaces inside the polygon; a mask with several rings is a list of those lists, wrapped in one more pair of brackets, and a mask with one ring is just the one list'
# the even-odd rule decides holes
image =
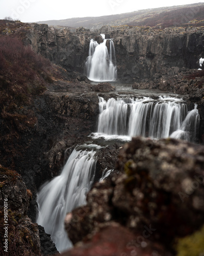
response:
{"label": "dark cliff section right of the uppermost waterfall", "polygon": [[198,68],[202,56],[202,28],[103,27],[101,33],[114,38],[118,78],[152,78],[171,67]]}

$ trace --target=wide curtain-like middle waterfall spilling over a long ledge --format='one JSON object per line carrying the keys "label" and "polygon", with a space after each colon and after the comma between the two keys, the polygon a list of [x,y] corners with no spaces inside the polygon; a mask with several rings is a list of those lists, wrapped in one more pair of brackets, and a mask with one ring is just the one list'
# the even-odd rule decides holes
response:
{"label": "wide curtain-like middle waterfall spilling over a long ledge", "polygon": [[[182,99],[160,96],[158,101],[149,97],[99,97],[99,117],[95,137],[144,136],[152,139],[169,136],[195,142],[199,114],[195,109],[188,113]],[[124,137],[128,138],[128,137]]]}

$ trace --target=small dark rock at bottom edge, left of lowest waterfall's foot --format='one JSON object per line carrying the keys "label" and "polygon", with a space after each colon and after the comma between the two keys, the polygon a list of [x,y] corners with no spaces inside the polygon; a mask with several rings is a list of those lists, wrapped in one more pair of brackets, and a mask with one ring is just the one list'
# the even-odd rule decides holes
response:
{"label": "small dark rock at bottom edge, left of lowest waterfall's foot", "polygon": [[50,234],[45,233],[44,228],[38,225],[40,236],[40,248],[42,255],[54,255],[58,253],[55,243],[50,239]]}

